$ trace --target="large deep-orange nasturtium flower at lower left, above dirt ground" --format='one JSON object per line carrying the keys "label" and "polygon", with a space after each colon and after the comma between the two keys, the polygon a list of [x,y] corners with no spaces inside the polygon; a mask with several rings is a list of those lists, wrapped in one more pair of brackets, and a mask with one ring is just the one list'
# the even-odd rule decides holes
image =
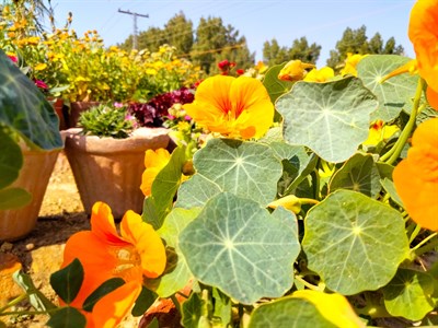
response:
{"label": "large deep-orange nasturtium flower at lower left, above dirt ground", "polygon": [[141,291],[143,276],[159,277],[165,268],[164,245],[152,225],[127,211],[117,233],[111,208],[93,206],[91,231],[72,235],[66,244],[62,267],[78,258],[84,279],[71,306],[82,308],[87,297],[103,282],[122,278],[126,284],[102,297],[92,314],[84,313],[87,327],[115,327],[129,313]]}

